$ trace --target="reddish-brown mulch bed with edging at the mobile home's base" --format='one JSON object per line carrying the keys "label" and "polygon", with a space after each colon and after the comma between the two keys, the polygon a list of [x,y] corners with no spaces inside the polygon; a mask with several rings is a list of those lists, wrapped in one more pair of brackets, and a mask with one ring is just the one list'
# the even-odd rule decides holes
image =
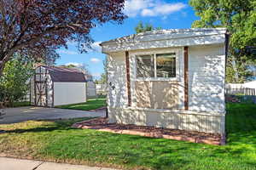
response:
{"label": "reddish-brown mulch bed with edging at the mobile home's base", "polygon": [[184,140],[203,144],[225,144],[225,139],[218,133],[201,133],[153,126],[125,125],[108,123],[107,118],[96,118],[84,122],[74,123],[72,127],[96,129],[102,132],[132,134],[151,138]]}

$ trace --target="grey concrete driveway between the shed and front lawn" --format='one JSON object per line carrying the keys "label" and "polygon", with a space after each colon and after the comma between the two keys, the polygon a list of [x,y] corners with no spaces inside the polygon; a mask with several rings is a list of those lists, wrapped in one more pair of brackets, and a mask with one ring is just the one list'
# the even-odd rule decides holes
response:
{"label": "grey concrete driveway between the shed and front lawn", "polygon": [[0,124],[25,122],[28,120],[55,120],[106,115],[106,111],[76,111],[32,106],[8,108],[4,112],[5,115],[3,119],[0,119]]}

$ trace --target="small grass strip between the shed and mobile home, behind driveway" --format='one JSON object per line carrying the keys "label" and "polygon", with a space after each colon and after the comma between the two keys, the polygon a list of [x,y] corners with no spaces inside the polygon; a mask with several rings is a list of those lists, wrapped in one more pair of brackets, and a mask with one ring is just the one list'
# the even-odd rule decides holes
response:
{"label": "small grass strip between the shed and mobile home, behind driveway", "polygon": [[90,111],[101,108],[103,106],[106,106],[106,99],[88,99],[88,101],[85,103],[60,105],[56,106],[56,108]]}

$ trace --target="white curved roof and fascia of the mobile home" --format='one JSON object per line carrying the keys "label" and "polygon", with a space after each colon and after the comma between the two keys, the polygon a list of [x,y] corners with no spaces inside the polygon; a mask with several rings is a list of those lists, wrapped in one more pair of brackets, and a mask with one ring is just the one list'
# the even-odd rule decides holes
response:
{"label": "white curved roof and fascia of the mobile home", "polygon": [[191,28],[146,31],[102,42],[102,52],[168,48],[224,43],[226,28]]}

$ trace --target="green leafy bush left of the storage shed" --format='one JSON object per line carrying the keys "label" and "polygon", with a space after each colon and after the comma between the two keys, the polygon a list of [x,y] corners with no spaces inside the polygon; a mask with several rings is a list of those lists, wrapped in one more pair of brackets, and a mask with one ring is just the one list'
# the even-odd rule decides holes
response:
{"label": "green leafy bush left of the storage shed", "polygon": [[32,62],[27,62],[20,55],[10,59],[0,77],[0,102],[9,102],[9,105],[22,99],[28,92],[29,79],[33,75]]}

